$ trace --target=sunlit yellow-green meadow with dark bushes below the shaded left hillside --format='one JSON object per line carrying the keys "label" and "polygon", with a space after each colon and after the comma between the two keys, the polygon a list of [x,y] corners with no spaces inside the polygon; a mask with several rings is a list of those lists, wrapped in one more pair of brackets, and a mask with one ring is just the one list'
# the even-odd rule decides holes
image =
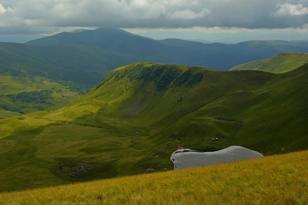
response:
{"label": "sunlit yellow-green meadow with dark bushes below the shaded left hillside", "polygon": [[0,88],[0,107],[21,114],[62,108],[88,89],[76,82],[41,76],[0,76]]}

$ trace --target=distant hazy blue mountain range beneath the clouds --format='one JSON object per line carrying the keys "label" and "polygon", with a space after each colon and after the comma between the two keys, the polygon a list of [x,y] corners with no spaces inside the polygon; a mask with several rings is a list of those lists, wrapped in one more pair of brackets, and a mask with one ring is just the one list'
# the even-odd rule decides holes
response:
{"label": "distant hazy blue mountain range beneath the clouds", "polygon": [[[302,42],[302,44],[301,44]],[[308,53],[307,41],[246,41],[234,45],[206,44],[180,39],[153,40],[117,28],[98,28],[26,42],[31,45],[90,45],[138,56],[135,62],[193,65],[228,70],[256,59],[271,58],[281,52]]]}

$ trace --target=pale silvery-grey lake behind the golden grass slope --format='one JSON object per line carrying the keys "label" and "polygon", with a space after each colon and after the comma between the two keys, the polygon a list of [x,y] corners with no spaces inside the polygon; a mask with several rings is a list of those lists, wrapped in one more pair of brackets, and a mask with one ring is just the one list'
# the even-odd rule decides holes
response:
{"label": "pale silvery-grey lake behind the golden grass slope", "polygon": [[215,152],[198,152],[190,149],[178,149],[172,153],[170,159],[172,160],[174,169],[176,170],[247,160],[257,157],[263,157],[263,155],[257,151],[244,147],[231,146]]}

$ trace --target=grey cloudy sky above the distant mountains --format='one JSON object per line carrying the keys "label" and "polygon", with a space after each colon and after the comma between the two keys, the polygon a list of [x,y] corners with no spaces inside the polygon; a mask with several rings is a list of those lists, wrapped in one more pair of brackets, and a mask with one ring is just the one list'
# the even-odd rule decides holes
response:
{"label": "grey cloudy sky above the distant mountains", "polygon": [[0,0],[0,34],[99,26],[307,29],[308,0]]}

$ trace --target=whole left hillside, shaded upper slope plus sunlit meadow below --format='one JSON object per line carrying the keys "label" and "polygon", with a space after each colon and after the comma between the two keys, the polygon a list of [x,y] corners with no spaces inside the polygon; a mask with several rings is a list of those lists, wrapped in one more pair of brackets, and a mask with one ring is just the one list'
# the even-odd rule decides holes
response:
{"label": "whole left hillside, shaded upper slope plus sunlit meadow below", "polygon": [[61,108],[136,59],[86,45],[0,43],[0,107],[19,113]]}

